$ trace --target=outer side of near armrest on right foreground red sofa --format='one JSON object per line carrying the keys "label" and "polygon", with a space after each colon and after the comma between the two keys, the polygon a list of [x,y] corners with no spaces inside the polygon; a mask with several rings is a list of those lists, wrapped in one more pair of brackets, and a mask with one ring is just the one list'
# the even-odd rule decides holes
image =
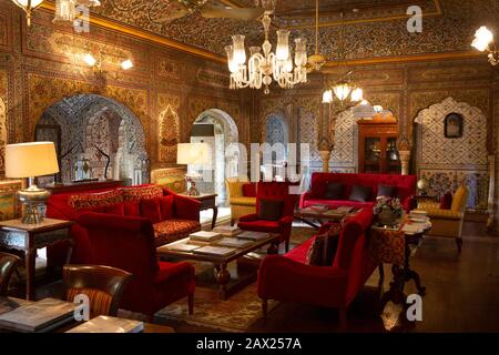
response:
{"label": "outer side of near armrest on right foreground red sofa", "polygon": [[258,270],[258,296],[264,300],[304,301],[342,297],[347,272],[334,266],[312,266],[282,255],[266,256]]}

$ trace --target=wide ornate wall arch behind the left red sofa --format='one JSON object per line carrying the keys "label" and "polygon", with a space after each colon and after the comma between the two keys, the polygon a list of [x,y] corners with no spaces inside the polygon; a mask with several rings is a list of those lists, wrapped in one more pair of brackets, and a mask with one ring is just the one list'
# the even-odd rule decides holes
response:
{"label": "wide ornate wall arch behind the left red sofa", "polygon": [[[99,120],[100,123],[96,122]],[[113,175],[114,179],[136,180],[135,171],[141,170],[141,182],[149,180],[149,172],[143,171],[144,164],[136,163],[138,158],[147,160],[145,133],[139,119],[125,105],[98,94],[79,94],[64,98],[49,106],[39,123],[50,121],[61,126],[64,138],[61,142],[61,154],[67,154],[61,161],[63,182],[74,179],[72,166],[82,154],[95,158],[96,150],[89,143],[89,139],[93,140],[95,134],[108,134],[104,138],[108,140],[106,143],[100,144],[105,145],[100,149],[111,156],[108,178]],[[92,130],[95,125],[99,125],[96,131]],[[126,168],[122,166],[124,162]],[[96,169],[95,172],[99,170],[99,174],[103,173],[105,161],[98,159],[93,168]]]}

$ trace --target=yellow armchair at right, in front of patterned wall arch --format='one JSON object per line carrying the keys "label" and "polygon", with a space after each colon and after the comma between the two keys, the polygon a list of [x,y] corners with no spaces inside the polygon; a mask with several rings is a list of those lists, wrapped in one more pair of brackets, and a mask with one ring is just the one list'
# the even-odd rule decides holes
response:
{"label": "yellow armchair at right, in front of patterned wall arch", "polygon": [[462,223],[465,220],[466,203],[468,202],[469,187],[461,185],[452,195],[450,210],[440,210],[437,202],[419,202],[418,209],[428,212],[431,219],[429,235],[456,239],[459,253],[462,247]]}

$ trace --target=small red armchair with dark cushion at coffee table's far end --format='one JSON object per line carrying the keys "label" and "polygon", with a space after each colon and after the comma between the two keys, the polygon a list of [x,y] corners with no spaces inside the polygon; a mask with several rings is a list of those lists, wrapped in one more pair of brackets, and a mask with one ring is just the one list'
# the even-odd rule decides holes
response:
{"label": "small red armchair with dark cushion at coffee table's far end", "polygon": [[[286,252],[289,250],[289,235],[293,224],[298,195],[289,194],[289,182],[259,182],[256,187],[256,213],[246,214],[240,219],[237,226],[244,231],[278,233],[281,243],[286,243]],[[258,219],[261,200],[283,201],[283,211],[278,221],[265,221]]]}

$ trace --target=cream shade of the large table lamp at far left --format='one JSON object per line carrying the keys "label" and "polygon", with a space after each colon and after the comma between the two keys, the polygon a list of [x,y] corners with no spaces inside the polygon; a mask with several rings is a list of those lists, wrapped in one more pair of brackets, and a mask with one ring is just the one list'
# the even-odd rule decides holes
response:
{"label": "cream shade of the large table lamp at far left", "polygon": [[6,145],[6,176],[34,178],[59,172],[53,142],[31,142]]}

